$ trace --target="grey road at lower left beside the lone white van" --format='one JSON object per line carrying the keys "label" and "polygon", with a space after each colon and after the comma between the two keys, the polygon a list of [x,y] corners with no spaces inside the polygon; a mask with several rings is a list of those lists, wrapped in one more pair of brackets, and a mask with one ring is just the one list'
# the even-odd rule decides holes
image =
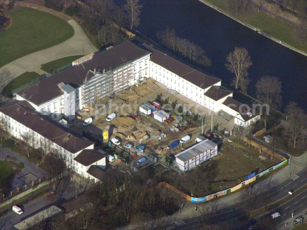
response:
{"label": "grey road at lower left beside the lone white van", "polygon": [[9,213],[7,213],[5,216],[0,217],[0,230],[10,229],[12,225],[17,224],[21,220],[24,220],[30,216],[33,216],[35,213],[45,209],[46,206],[51,205],[52,202],[54,202],[56,205],[60,205],[74,196],[76,196],[76,188],[72,182],[69,182],[68,186],[63,192],[63,195],[60,196],[60,192],[58,191],[57,197],[55,197],[53,200],[47,200],[45,196],[41,196],[33,201],[29,201],[24,205],[24,213],[21,215],[18,215],[17,213],[14,213],[12,210],[10,210]]}

